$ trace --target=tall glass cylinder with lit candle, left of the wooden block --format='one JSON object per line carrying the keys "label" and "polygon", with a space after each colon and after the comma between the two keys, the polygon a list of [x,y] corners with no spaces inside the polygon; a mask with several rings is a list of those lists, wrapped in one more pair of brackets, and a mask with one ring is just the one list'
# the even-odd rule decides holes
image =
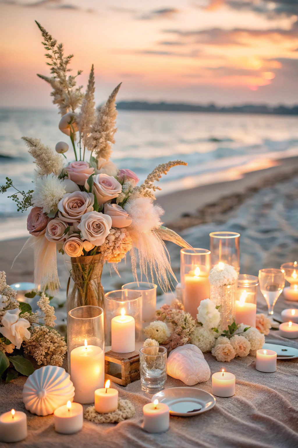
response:
{"label": "tall glass cylinder with lit candle, left of the wooden block", "polygon": [[94,392],[105,382],[104,312],[99,306],[80,306],[67,319],[68,372],[74,401],[94,403]]}

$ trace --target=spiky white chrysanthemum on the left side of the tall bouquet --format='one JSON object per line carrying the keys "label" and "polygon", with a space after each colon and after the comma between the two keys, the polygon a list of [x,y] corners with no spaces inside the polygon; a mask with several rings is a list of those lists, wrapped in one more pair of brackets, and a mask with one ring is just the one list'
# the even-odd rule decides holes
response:
{"label": "spiky white chrysanthemum on the left side of the tall bouquet", "polygon": [[66,193],[62,181],[55,174],[40,176],[35,181],[35,190],[32,195],[34,207],[41,207],[44,213],[58,211],[58,202]]}

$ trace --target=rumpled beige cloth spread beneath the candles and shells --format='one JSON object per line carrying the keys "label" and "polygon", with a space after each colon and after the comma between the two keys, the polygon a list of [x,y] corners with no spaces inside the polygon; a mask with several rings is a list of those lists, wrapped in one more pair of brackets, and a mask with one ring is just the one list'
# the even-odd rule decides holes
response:
{"label": "rumpled beige cloth spread beneath the candles and shells", "polygon": [[[264,303],[259,306],[264,307]],[[277,311],[298,304],[277,302]],[[284,339],[270,331],[266,342],[298,348],[298,340]],[[134,418],[119,424],[94,424],[84,420],[83,429],[74,435],[59,435],[54,430],[53,415],[37,417],[25,411],[21,392],[25,377],[0,386],[0,412],[12,408],[23,410],[28,419],[28,437],[17,444],[2,447],[168,447],[168,448],[297,448],[298,447],[298,359],[278,360],[277,371],[262,373],[255,369],[255,358],[235,358],[217,362],[206,353],[211,374],[222,368],[236,376],[236,393],[230,398],[216,398],[210,411],[195,417],[171,417],[170,429],[164,434],[148,434],[141,428],[143,405],[151,395],[141,391],[140,381],[126,388],[117,387],[121,398],[133,402]],[[166,388],[185,386],[168,377]],[[194,386],[211,392],[211,378]],[[87,406],[84,406],[87,407]]]}

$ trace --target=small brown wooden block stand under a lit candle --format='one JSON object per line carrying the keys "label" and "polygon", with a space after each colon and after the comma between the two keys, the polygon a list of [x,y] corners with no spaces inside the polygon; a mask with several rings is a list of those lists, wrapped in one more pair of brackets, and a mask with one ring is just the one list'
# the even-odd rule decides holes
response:
{"label": "small brown wooden block stand under a lit candle", "polygon": [[[110,363],[121,365],[121,372],[111,375]],[[105,353],[105,379],[127,386],[140,379],[140,355],[138,352],[116,353],[109,350]]]}

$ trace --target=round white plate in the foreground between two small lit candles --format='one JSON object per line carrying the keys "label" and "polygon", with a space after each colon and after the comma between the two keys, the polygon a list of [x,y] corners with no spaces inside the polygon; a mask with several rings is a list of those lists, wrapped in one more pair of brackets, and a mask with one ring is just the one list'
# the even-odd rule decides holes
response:
{"label": "round white plate in the foreground between two small lit candles", "polygon": [[209,411],[215,405],[215,398],[209,392],[197,388],[170,388],[157,392],[151,398],[170,408],[171,415],[192,417]]}

